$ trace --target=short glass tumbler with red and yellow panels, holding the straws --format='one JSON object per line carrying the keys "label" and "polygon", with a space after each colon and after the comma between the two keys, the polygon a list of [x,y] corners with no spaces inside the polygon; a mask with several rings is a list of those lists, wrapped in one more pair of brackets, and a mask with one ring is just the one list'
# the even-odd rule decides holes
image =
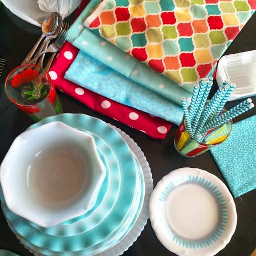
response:
{"label": "short glass tumbler with red and yellow panels, holding the straws", "polygon": [[[227,112],[225,108],[222,110],[222,113],[224,112]],[[192,138],[187,132],[186,119],[184,117],[174,137],[174,146],[182,156],[196,157],[208,151],[211,147],[227,140],[231,131],[232,120],[229,120],[219,127],[209,130],[204,140],[199,142]]]}

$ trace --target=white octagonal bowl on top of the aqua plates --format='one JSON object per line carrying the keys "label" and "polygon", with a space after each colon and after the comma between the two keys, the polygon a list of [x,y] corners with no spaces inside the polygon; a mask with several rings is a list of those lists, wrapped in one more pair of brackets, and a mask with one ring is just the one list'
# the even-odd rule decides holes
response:
{"label": "white octagonal bowl on top of the aqua plates", "polygon": [[0,166],[8,208],[42,227],[91,209],[105,175],[93,137],[62,122],[18,136]]}

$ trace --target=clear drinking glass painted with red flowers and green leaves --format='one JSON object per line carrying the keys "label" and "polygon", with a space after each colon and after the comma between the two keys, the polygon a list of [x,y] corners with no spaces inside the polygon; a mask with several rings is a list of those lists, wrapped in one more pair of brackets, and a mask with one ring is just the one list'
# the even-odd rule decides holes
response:
{"label": "clear drinking glass painted with red flowers and green leaves", "polygon": [[12,70],[5,80],[5,92],[35,121],[62,113],[50,75],[41,67],[23,65]]}

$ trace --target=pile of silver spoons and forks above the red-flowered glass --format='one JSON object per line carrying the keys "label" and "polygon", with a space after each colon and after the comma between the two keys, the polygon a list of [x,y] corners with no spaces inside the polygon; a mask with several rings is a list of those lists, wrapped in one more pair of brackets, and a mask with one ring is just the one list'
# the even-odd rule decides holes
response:
{"label": "pile of silver spoons and forks above the red-flowered glass", "polygon": [[[63,22],[60,13],[51,13],[42,23],[42,35],[26,55],[22,65],[33,64],[48,71],[56,53],[66,41],[69,26],[69,23]],[[47,64],[44,65],[46,53],[51,53],[51,56]]]}

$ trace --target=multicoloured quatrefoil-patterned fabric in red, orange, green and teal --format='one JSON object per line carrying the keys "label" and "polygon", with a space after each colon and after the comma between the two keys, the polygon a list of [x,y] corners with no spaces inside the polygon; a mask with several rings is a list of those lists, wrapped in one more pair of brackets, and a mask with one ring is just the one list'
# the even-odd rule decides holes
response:
{"label": "multicoloured quatrefoil-patterned fabric in red, orange, green and teal", "polygon": [[103,0],[85,25],[182,86],[214,70],[256,0]]}

